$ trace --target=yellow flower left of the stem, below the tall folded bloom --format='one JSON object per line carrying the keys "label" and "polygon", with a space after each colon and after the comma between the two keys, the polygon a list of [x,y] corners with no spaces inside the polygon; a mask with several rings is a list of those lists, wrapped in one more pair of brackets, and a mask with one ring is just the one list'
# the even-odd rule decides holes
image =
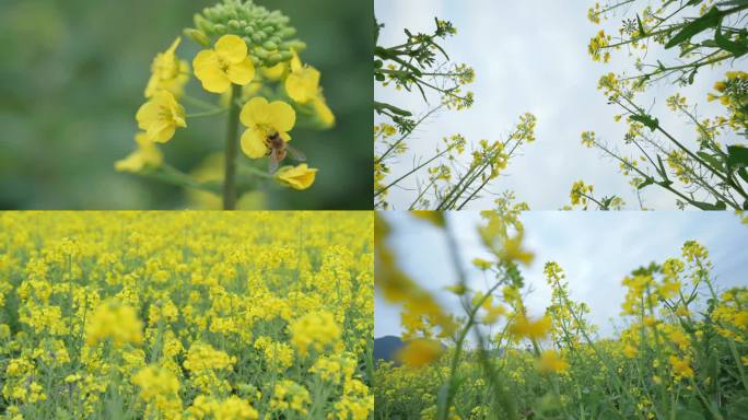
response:
{"label": "yellow flower left of the stem, below the tall folded bloom", "polygon": [[174,137],[177,127],[187,127],[185,108],[168,91],[159,91],[136,114],[138,127],[145,130],[145,139],[165,143]]}

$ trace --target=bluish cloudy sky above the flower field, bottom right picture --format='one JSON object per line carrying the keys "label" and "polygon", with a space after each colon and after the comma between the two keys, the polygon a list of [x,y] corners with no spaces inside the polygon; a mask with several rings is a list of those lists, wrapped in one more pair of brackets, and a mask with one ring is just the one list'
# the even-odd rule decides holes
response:
{"label": "bluish cloudy sky above the flower field, bottom right picture", "polygon": [[[407,212],[385,212],[393,224],[390,244],[405,271],[440,296],[454,313],[460,313],[453,294],[442,290],[456,282],[444,236],[426,222]],[[470,267],[474,289],[486,290],[481,271],[469,261],[489,258],[476,233],[481,219],[477,212],[448,214],[458,223],[459,249],[465,267]],[[550,304],[550,288],[542,275],[544,265],[553,260],[565,271],[571,298],[591,307],[589,318],[609,336],[610,319],[620,322],[620,305],[626,295],[621,280],[631,270],[652,261],[680,257],[680,247],[696,240],[710,252],[714,276],[721,289],[748,285],[748,226],[732,212],[624,211],[624,212],[525,212],[525,245],[535,252],[529,268],[523,269],[525,303],[531,315],[541,315]],[[400,334],[399,307],[375,295],[375,337]]]}

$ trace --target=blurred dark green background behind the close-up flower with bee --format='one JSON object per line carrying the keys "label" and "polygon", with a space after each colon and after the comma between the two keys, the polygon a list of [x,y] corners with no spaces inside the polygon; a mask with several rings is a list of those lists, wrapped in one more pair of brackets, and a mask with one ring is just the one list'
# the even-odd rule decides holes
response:
{"label": "blurred dark green background behind the close-up flower with bee", "polygon": [[[177,209],[185,190],[117,173],[135,149],[151,60],[217,0],[1,0],[0,208]],[[279,9],[322,71],[331,130],[294,129],[318,167],[305,191],[264,187],[272,209],[372,208],[371,0],[256,0]],[[200,48],[183,37],[188,61]],[[188,92],[199,83],[190,81]],[[191,172],[223,148],[225,118],[199,119],[161,147]]]}

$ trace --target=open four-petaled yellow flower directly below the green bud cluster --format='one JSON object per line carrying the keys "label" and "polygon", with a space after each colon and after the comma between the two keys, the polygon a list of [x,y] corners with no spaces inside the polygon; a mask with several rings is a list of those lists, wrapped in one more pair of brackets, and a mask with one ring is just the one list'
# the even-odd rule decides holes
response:
{"label": "open four-petaled yellow flower directly below the green bud cluster", "polygon": [[249,84],[255,78],[255,65],[247,54],[247,44],[236,35],[224,35],[214,49],[203,49],[192,61],[195,75],[202,88],[212,93],[223,93],[232,83]]}

